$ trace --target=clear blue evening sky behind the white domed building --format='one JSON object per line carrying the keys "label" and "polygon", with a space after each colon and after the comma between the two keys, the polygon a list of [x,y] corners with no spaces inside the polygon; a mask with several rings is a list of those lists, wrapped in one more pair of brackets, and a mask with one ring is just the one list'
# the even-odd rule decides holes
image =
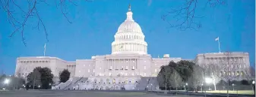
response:
{"label": "clear blue evening sky behind the white domed building", "polygon": [[[198,0],[195,14],[200,18],[202,27],[198,31],[166,29],[168,23],[161,16],[172,6],[180,5],[178,0],[131,1],[131,0],[95,0],[95,2],[75,2],[77,6],[67,5],[68,19],[63,17],[55,2],[49,5],[41,2],[37,5],[40,17],[49,34],[46,44],[46,56],[56,56],[68,61],[75,59],[90,59],[94,55],[111,53],[111,43],[115,32],[125,20],[128,4],[134,20],[139,23],[146,36],[148,53],[153,57],[170,54],[171,57],[194,59],[197,53],[223,51],[242,51],[250,54],[251,65],[255,59],[255,2],[254,0],[227,0],[228,5],[204,7],[206,0]],[[67,2],[68,3],[68,2]],[[27,7],[27,2],[17,2],[21,8]],[[17,8],[16,8],[17,9]],[[21,32],[9,38],[14,28],[8,23],[8,16],[0,9],[0,68],[7,74],[14,74],[15,61],[20,56],[43,56],[43,46],[46,37],[42,26],[40,31],[36,26],[36,17],[30,18],[24,29],[27,47],[21,39]],[[22,20],[22,15],[16,11],[14,17]],[[172,20],[169,17],[169,20]]]}

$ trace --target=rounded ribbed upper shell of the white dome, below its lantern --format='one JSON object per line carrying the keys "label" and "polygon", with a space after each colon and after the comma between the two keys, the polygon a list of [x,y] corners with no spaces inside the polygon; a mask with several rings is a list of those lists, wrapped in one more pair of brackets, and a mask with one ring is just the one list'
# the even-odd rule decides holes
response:
{"label": "rounded ribbed upper shell of the white dome, below its lantern", "polygon": [[141,26],[134,21],[126,20],[118,29],[118,32],[137,32],[142,33]]}

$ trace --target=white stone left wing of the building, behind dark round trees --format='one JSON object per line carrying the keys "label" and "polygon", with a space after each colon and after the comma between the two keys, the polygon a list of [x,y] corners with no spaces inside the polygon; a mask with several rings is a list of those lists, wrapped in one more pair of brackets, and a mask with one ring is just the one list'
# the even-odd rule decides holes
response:
{"label": "white stone left wing of the building, behind dark round trees", "polygon": [[58,77],[61,71],[68,69],[68,71],[71,71],[71,77],[74,77],[75,62],[67,62],[63,59],[49,56],[19,57],[16,62],[15,75],[25,78],[36,67],[50,68],[54,77]]}

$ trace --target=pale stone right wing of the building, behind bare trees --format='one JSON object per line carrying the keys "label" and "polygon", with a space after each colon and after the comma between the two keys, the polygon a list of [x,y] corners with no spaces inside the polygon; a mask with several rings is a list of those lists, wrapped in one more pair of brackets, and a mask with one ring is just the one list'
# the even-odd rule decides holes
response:
{"label": "pale stone right wing of the building, behind bare trees", "polygon": [[194,61],[217,77],[229,75],[229,80],[246,80],[246,77],[251,76],[248,72],[250,67],[248,53],[201,53]]}

